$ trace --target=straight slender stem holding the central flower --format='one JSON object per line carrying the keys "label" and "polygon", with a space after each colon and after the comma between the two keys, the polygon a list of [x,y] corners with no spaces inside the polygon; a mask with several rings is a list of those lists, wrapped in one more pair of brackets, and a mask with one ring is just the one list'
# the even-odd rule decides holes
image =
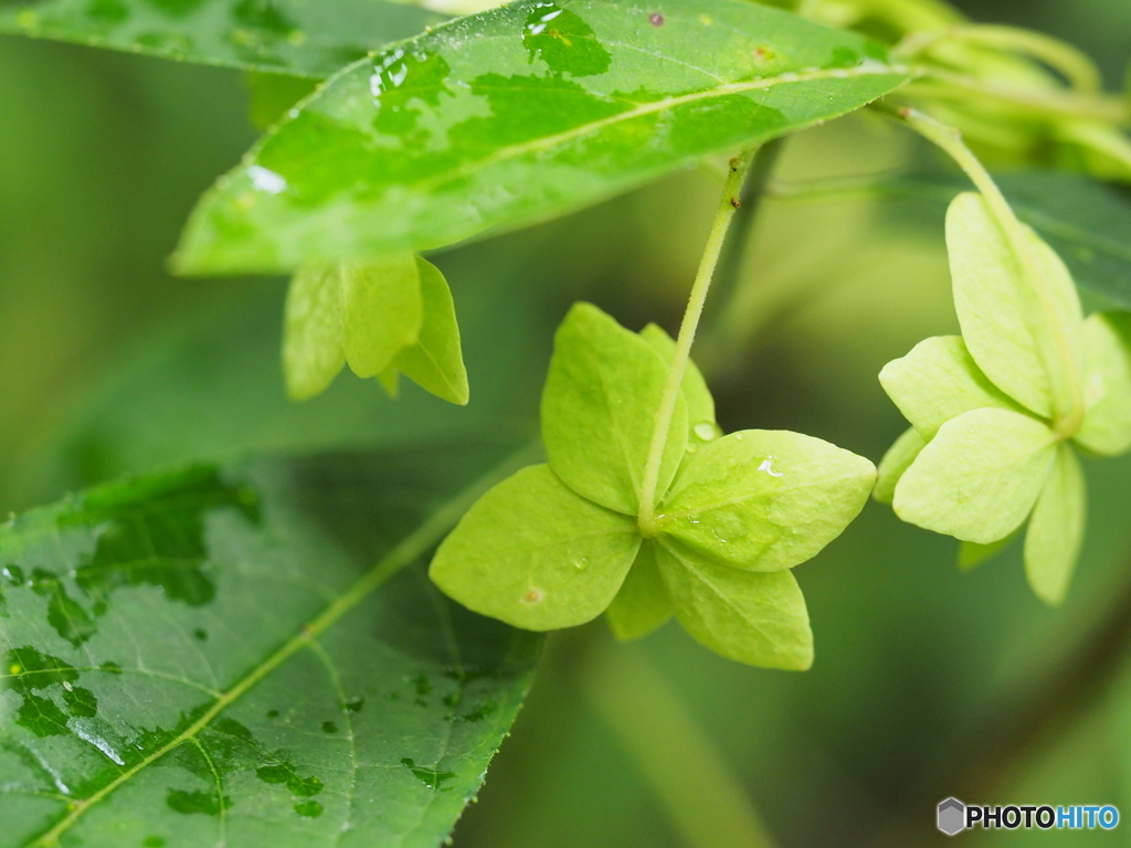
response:
{"label": "straight slender stem holding the central flower", "polygon": [[719,200],[718,210],[715,213],[715,223],[711,224],[710,234],[707,236],[707,246],[699,262],[696,282],[688,296],[688,308],[683,313],[683,323],[680,325],[680,335],[675,339],[675,355],[672,357],[672,365],[667,372],[667,384],[664,386],[659,408],[656,410],[656,422],[648,448],[648,461],[645,465],[644,483],[640,486],[638,520],[645,535],[653,535],[656,528],[656,487],[659,484],[659,466],[664,459],[667,434],[672,429],[675,401],[680,397],[683,372],[687,370],[688,357],[691,355],[691,344],[696,339],[696,330],[699,327],[699,319],[702,317],[703,304],[707,302],[707,293],[710,291],[711,277],[715,275],[715,267],[718,265],[718,258],[723,251],[726,232],[735,211],[742,205],[742,184],[750,170],[754,153],[757,153],[757,148],[745,150],[731,159],[731,173],[727,175],[723,197]]}

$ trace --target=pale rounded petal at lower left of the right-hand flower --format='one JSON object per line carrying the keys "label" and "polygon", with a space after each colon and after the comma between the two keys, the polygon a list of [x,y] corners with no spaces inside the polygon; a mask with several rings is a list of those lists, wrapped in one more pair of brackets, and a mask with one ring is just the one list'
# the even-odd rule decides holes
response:
{"label": "pale rounded petal at lower left of the right-hand flower", "polygon": [[1056,436],[1007,409],[975,409],[940,427],[896,486],[904,521],[988,545],[1026,519],[1048,477]]}

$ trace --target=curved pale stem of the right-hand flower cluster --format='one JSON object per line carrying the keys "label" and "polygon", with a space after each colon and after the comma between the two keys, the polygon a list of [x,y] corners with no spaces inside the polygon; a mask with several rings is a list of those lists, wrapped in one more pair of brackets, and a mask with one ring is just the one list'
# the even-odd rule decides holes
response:
{"label": "curved pale stem of the right-hand flower cluster", "polygon": [[912,109],[900,110],[898,115],[912,129],[938,145],[958,163],[982,192],[982,197],[990,205],[991,213],[1004,231],[1005,237],[1021,262],[1025,276],[1031,282],[1037,298],[1041,301],[1045,323],[1056,349],[1056,358],[1053,362],[1050,362],[1050,357],[1043,353],[1045,371],[1053,387],[1054,427],[1062,438],[1067,439],[1073,435],[1083,421],[1083,387],[1080,382],[1076,357],[1072,355],[1072,347],[1069,344],[1068,330],[1060,320],[1048,280],[1041,270],[1036,251],[1033,249],[1033,243],[1021,226],[1021,222],[1017,219],[1017,215],[1013,214],[1013,209],[1005,200],[1004,194],[1001,193],[1001,189],[990,176],[990,172],[962,144],[961,136],[957,130]]}

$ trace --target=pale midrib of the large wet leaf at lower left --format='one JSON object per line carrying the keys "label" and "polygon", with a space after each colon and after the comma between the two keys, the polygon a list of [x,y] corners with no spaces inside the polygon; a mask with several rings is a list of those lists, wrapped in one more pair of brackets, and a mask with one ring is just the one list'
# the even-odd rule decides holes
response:
{"label": "pale midrib of the large wet leaf at lower left", "polygon": [[337,600],[330,604],[312,621],[304,624],[302,630],[287,640],[270,657],[252,668],[234,686],[221,694],[216,702],[208,710],[193,721],[189,727],[178,734],[173,739],[153,752],[136,765],[123,771],[103,788],[80,802],[76,802],[66,816],[55,823],[50,830],[26,843],[27,848],[51,848],[58,845],[60,837],[70,830],[95,804],[114,793],[119,787],[127,784],[146,767],[162,759],[169,752],[183,745],[185,742],[195,739],[197,735],[208,727],[211,721],[224,710],[235,703],[247,694],[260,681],[270,675],[282,666],[287,659],[297,654],[302,648],[314,642],[314,639],[329,630],[343,615],[357,606],[362,600],[375,591],[386,580],[397,571],[411,565],[422,556],[430,547],[435,545],[440,538],[450,530],[459,518],[466,512],[475,501],[480,499],[499,479],[506,477],[518,467],[526,465],[528,450],[521,450],[508,459],[503,460],[485,475],[476,479],[455,497],[443,503],[425,521],[423,521],[413,533],[403,538],[388,554],[386,554],[368,573],[361,577],[349,589]]}

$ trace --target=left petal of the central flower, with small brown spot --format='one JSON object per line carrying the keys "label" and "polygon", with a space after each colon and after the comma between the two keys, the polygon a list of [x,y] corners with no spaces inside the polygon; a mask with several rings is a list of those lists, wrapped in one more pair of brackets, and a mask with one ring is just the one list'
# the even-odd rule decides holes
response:
{"label": "left petal of the central flower, with small brown spot", "polygon": [[634,520],[575,494],[537,465],[468,510],[429,576],[448,597],[508,624],[572,628],[608,607],[639,547]]}

